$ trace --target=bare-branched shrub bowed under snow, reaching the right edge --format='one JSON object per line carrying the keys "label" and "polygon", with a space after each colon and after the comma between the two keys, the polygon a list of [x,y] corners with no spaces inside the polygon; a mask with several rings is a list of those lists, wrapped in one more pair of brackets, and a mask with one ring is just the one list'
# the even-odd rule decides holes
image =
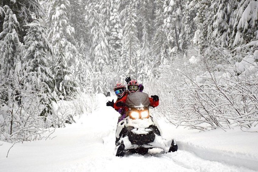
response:
{"label": "bare-branched shrub bowed under snow, reaching the right edge", "polygon": [[[258,66],[253,56],[235,65],[221,65],[221,72],[208,71],[196,80],[184,74],[186,101],[181,103],[189,113],[189,126],[207,128],[255,127],[257,122]],[[206,123],[206,125],[203,125]]]}

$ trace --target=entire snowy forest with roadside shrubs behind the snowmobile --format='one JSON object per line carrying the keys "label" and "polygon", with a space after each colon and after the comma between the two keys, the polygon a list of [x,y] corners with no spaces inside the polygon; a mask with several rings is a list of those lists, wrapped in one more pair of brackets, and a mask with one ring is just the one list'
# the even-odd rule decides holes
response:
{"label": "entire snowy forest with roadside shrubs behind the snowmobile", "polygon": [[257,132],[257,61],[257,0],[0,0],[0,140],[41,139],[128,76],[175,125]]}

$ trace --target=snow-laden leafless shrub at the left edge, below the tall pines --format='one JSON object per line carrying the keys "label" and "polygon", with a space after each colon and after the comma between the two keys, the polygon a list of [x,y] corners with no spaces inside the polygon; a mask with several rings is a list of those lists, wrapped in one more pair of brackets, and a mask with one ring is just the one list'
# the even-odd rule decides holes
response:
{"label": "snow-laden leafless shrub at the left edge, below the tall pines", "polygon": [[[18,73],[16,73],[18,72]],[[24,73],[10,73],[1,90],[7,94],[0,106],[0,140],[7,142],[40,139],[44,121],[40,114],[39,92],[22,84]]]}

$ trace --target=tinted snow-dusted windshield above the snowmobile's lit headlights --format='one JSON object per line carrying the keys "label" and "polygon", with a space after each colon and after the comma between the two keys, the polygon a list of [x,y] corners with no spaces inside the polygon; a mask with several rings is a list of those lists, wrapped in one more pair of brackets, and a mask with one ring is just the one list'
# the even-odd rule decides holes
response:
{"label": "tinted snow-dusted windshield above the snowmobile's lit headlights", "polygon": [[142,92],[131,93],[127,96],[126,104],[128,107],[148,107],[150,105],[149,96]]}

